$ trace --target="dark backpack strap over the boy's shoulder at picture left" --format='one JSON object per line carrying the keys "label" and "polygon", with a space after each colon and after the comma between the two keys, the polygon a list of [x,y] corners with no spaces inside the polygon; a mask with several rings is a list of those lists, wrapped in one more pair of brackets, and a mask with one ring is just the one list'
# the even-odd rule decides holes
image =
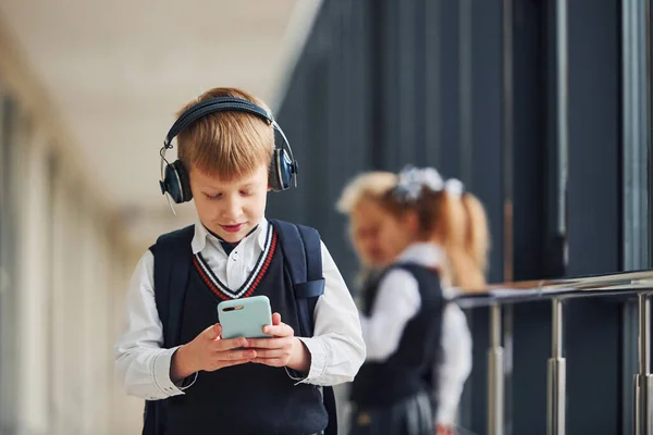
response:
{"label": "dark backpack strap over the boy's shoulder at picture left", "polygon": [[[155,301],[163,326],[163,348],[181,341],[181,321],[186,284],[190,272],[193,250],[190,243],[195,226],[163,234],[150,247],[155,256]],[[144,435],[164,432],[164,400],[146,400],[143,425]]]}

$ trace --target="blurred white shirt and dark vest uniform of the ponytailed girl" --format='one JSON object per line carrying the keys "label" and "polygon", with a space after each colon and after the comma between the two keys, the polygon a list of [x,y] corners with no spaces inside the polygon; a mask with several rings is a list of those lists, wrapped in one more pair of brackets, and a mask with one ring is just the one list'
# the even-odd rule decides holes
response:
{"label": "blurred white shirt and dark vest uniform of the ponytailed girl", "polygon": [[471,337],[463,311],[447,303],[449,286],[433,272],[443,261],[439,246],[414,244],[365,290],[367,358],[352,386],[353,435],[427,434],[434,423],[454,424]]}

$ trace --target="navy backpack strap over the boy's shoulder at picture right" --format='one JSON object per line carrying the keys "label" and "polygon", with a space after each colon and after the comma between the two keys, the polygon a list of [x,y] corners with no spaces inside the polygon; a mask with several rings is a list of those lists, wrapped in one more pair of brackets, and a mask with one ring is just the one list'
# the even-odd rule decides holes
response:
{"label": "navy backpack strap over the boy's shoulder at picture right", "polygon": [[[291,279],[303,337],[312,337],[313,312],[318,299],[324,294],[322,276],[322,244],[317,229],[289,222],[270,220],[281,241]],[[329,415],[325,435],[337,434],[337,414],[333,387],[322,387],[324,408]]]}

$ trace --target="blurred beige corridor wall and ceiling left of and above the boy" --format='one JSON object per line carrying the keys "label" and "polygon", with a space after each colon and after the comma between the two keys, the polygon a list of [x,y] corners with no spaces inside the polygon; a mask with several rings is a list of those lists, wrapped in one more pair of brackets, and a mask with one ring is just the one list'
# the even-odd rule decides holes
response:
{"label": "blurred beige corridor wall and ceiling left of and above the boy", "polygon": [[193,219],[160,144],[206,86],[279,98],[319,5],[298,3],[0,4],[0,433],[139,432],[113,376],[127,279]]}

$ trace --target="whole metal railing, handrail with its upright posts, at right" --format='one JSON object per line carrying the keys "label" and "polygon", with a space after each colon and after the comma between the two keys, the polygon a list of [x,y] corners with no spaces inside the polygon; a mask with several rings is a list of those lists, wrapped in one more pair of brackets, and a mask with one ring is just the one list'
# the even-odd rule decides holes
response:
{"label": "whole metal railing, handrail with its upright posts, at right", "polygon": [[488,350],[488,434],[504,434],[504,362],[502,308],[506,304],[550,300],[552,343],[547,366],[546,433],[565,434],[566,360],[563,357],[565,300],[574,298],[637,296],[638,373],[634,376],[634,433],[653,435],[653,375],[651,374],[651,300],[653,271],[572,279],[521,282],[490,286],[482,293],[460,293],[461,308],[490,307],[490,348]]}

